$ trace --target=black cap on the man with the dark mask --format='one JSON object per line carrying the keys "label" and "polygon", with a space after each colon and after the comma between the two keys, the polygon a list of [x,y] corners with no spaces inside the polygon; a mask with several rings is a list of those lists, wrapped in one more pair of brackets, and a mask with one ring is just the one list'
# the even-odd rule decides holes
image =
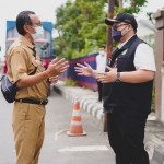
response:
{"label": "black cap on the man with the dark mask", "polygon": [[107,17],[105,19],[105,23],[107,25],[113,25],[114,23],[117,23],[117,22],[125,22],[125,23],[131,24],[133,30],[137,30],[137,27],[138,27],[138,24],[137,24],[134,16],[129,14],[129,13],[122,13],[121,12],[121,13],[118,13],[113,19],[107,19]]}

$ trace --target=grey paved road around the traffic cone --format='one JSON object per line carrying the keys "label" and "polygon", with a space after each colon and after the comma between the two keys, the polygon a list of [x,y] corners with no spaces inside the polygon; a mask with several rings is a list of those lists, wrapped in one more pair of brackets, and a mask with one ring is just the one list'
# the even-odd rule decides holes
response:
{"label": "grey paved road around the traffic cone", "polygon": [[[12,104],[4,102],[0,93],[0,164],[14,164],[15,152],[11,127]],[[68,137],[73,104],[54,91],[46,106],[46,134],[39,164],[115,164],[103,124],[81,110],[85,137]],[[102,150],[101,150],[102,149]]]}

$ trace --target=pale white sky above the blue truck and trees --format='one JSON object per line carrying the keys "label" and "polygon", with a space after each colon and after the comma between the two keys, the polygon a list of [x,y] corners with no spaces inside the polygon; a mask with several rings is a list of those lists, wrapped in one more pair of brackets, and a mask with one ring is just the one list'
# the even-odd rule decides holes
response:
{"label": "pale white sky above the blue truck and trees", "polygon": [[[5,54],[5,24],[7,21],[14,21],[16,15],[23,10],[34,11],[42,21],[55,23],[55,10],[65,4],[67,0],[0,0],[0,58],[3,60]],[[147,12],[156,12],[157,9],[164,7],[164,0],[148,0],[147,7],[137,19],[147,19]],[[54,33],[56,36],[56,33]]]}

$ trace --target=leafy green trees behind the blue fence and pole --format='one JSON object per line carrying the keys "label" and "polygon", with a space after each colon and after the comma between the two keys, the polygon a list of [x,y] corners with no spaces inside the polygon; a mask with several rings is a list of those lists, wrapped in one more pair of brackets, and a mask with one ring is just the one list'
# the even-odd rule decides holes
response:
{"label": "leafy green trees behind the blue fence and pole", "polygon": [[[147,0],[115,0],[114,15],[118,12],[138,13],[144,3]],[[56,10],[54,27],[59,36],[55,38],[54,47],[58,56],[78,58],[97,52],[101,45],[106,45],[105,7],[107,0],[68,0]]]}

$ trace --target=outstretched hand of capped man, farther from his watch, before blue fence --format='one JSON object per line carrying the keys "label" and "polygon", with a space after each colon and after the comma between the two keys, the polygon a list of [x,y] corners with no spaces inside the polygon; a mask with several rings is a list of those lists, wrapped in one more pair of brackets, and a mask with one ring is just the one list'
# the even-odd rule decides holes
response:
{"label": "outstretched hand of capped man, farther from his watch, before blue fence", "polygon": [[84,65],[85,66],[77,63],[78,67],[74,67],[75,72],[78,72],[79,75],[92,77],[93,75],[93,69],[86,62],[84,62]]}

